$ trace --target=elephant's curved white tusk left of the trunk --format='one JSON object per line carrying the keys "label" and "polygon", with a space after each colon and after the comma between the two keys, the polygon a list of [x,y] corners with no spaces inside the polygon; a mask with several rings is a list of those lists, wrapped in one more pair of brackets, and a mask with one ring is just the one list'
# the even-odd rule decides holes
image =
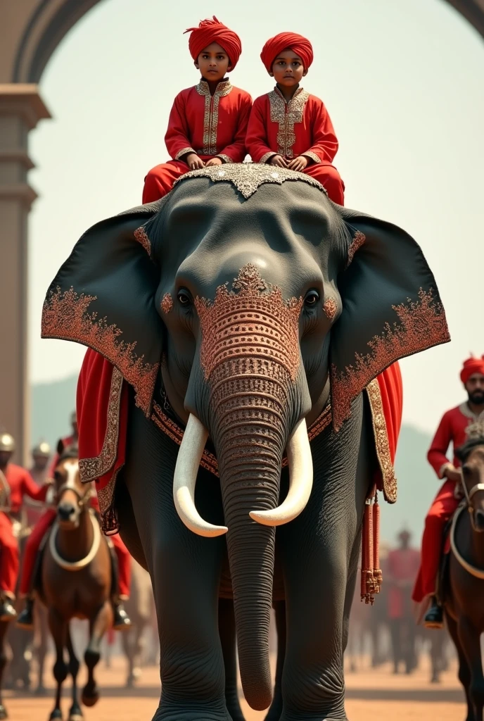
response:
{"label": "elephant's curved white tusk left of the trunk", "polygon": [[207,438],[208,431],[197,417],[190,414],[176,459],[173,499],[176,513],[185,526],[198,536],[212,538],[226,534],[228,528],[207,523],[195,508],[195,484]]}

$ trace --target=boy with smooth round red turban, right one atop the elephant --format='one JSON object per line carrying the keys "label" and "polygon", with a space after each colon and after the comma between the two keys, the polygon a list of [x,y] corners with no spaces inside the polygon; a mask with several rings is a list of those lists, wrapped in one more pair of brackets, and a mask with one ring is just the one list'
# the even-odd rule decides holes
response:
{"label": "boy with smooth round red turban, right one atop the elephant", "polygon": [[252,107],[246,137],[252,160],[304,172],[343,205],[344,183],[331,164],[338,150],[331,118],[323,101],[299,85],[313,62],[311,43],[280,32],[267,40],[261,60],[277,85]]}

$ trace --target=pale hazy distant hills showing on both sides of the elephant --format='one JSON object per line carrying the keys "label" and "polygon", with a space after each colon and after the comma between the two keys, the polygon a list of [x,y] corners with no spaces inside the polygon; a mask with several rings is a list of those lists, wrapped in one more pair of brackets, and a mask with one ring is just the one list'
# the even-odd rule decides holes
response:
{"label": "pale hazy distant hills showing on both sides of the elephant", "polygon": [[[76,403],[77,376],[32,387],[32,443],[45,439],[55,446],[58,438],[70,431],[69,416]],[[382,505],[382,539],[393,543],[403,526],[420,545],[424,518],[439,483],[426,461],[431,442],[429,434],[411,425],[403,425],[398,443],[396,472],[398,501]]]}

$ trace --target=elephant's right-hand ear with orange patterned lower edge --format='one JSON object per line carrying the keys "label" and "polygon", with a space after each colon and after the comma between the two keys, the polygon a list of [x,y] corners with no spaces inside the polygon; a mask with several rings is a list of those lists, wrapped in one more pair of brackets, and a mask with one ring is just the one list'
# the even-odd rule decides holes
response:
{"label": "elephant's right-hand ear with orange patterned lower edge", "polygon": [[333,425],[351,402],[400,358],[450,340],[434,275],[405,231],[339,208],[346,224],[346,267],[338,278],[341,316],[331,330]]}

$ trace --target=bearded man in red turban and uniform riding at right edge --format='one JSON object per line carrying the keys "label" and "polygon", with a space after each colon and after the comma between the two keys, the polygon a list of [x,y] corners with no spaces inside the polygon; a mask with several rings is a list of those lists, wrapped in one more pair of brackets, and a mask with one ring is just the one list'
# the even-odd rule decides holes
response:
{"label": "bearded man in red turban and uniform riding at right edge", "polygon": [[468,358],[460,379],[467,391],[467,401],[444,413],[427,455],[437,477],[445,479],[425,519],[421,567],[412,595],[417,603],[431,598],[431,606],[424,617],[424,624],[429,628],[442,627],[442,608],[435,596],[442,533],[460,502],[460,462],[455,456],[452,462],[449,461],[447,449],[451,442],[453,449],[462,446],[467,441],[467,427],[484,420],[484,356]]}

